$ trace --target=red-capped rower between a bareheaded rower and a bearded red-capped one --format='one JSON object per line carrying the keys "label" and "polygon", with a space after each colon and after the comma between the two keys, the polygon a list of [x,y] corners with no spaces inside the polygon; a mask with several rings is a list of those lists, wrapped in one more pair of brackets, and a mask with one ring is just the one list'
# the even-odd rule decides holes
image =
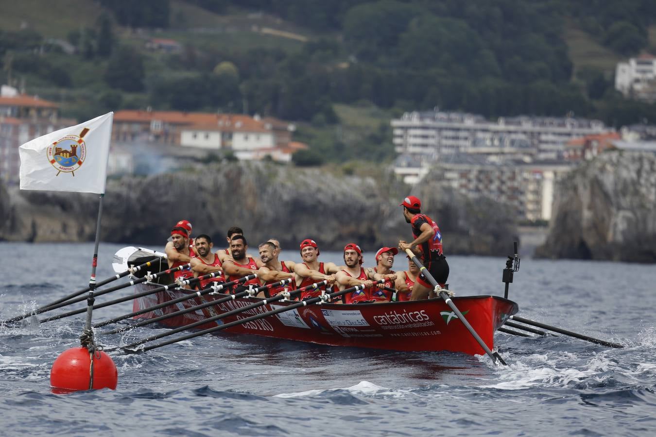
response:
{"label": "red-capped rower between a bareheaded rower and a bearded red-capped one", "polygon": [[296,263],[294,267],[297,288],[304,288],[322,280],[328,281],[327,285],[316,290],[302,292],[299,297],[301,300],[317,297],[321,295],[321,292],[331,293],[333,291],[333,282],[335,282],[335,273],[342,269],[342,267],[337,267],[335,263],[320,263],[317,259],[318,256],[319,246],[316,241],[306,238],[300,242],[300,257],[303,261]]}

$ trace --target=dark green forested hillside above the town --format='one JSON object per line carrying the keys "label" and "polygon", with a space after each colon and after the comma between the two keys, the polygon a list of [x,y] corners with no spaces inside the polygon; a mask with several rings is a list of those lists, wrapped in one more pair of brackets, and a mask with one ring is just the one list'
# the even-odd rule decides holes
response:
{"label": "dark green forested hillside above the town", "polygon": [[[65,5],[56,12],[62,17],[93,12],[64,21],[75,23],[68,27],[52,26],[38,1],[0,1],[0,79],[62,102],[64,115],[80,119],[147,106],[257,112],[302,122],[302,139],[333,161],[393,154],[389,143],[380,148],[389,142],[385,123],[356,136],[360,147],[346,147],[343,132],[333,128],[344,121],[344,107],[382,111],[381,121],[434,106],[487,117],[575,113],[616,126],[656,120],[656,105],[613,90],[613,64],[572,57],[586,52],[582,41],[617,59],[656,53],[653,0]],[[572,30],[583,39],[568,41]],[[52,37],[75,53],[66,54]],[[148,50],[152,38],[181,48]]]}

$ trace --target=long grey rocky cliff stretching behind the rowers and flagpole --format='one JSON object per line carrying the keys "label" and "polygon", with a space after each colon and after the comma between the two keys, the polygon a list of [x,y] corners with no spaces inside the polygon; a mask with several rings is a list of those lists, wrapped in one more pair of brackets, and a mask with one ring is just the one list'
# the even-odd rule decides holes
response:
{"label": "long grey rocky cliff stretching behind the rowers and flagpole", "polygon": [[[430,181],[430,175],[428,177]],[[162,245],[179,219],[224,246],[228,227],[242,227],[255,248],[276,237],[283,248],[304,238],[341,250],[357,242],[365,250],[411,240],[398,204],[407,187],[382,171],[375,178],[336,176],[316,169],[240,162],[197,166],[188,172],[108,181],[102,240]],[[438,222],[446,254],[510,253],[514,223],[502,222],[499,206],[460,199],[428,183],[413,191]],[[49,191],[0,191],[0,238],[88,241],[94,238],[98,195]],[[499,252],[499,244],[508,250]],[[369,260],[371,261],[371,260]]]}

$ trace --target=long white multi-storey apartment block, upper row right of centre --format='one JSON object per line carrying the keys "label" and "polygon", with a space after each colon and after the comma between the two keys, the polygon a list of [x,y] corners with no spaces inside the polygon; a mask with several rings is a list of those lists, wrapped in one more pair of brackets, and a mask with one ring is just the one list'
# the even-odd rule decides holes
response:
{"label": "long white multi-storey apartment block, upper row right of centre", "polygon": [[459,112],[408,112],[392,124],[397,153],[438,158],[450,153],[512,153],[560,159],[571,138],[612,132],[602,121],[573,117],[499,117]]}

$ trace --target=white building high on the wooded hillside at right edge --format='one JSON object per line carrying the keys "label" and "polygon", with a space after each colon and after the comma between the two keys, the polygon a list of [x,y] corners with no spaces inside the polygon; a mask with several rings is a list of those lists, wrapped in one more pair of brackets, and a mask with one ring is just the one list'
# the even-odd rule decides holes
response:
{"label": "white building high on the wooded hillside at right edge", "polygon": [[644,54],[619,62],[615,68],[615,89],[625,97],[656,101],[656,57]]}

